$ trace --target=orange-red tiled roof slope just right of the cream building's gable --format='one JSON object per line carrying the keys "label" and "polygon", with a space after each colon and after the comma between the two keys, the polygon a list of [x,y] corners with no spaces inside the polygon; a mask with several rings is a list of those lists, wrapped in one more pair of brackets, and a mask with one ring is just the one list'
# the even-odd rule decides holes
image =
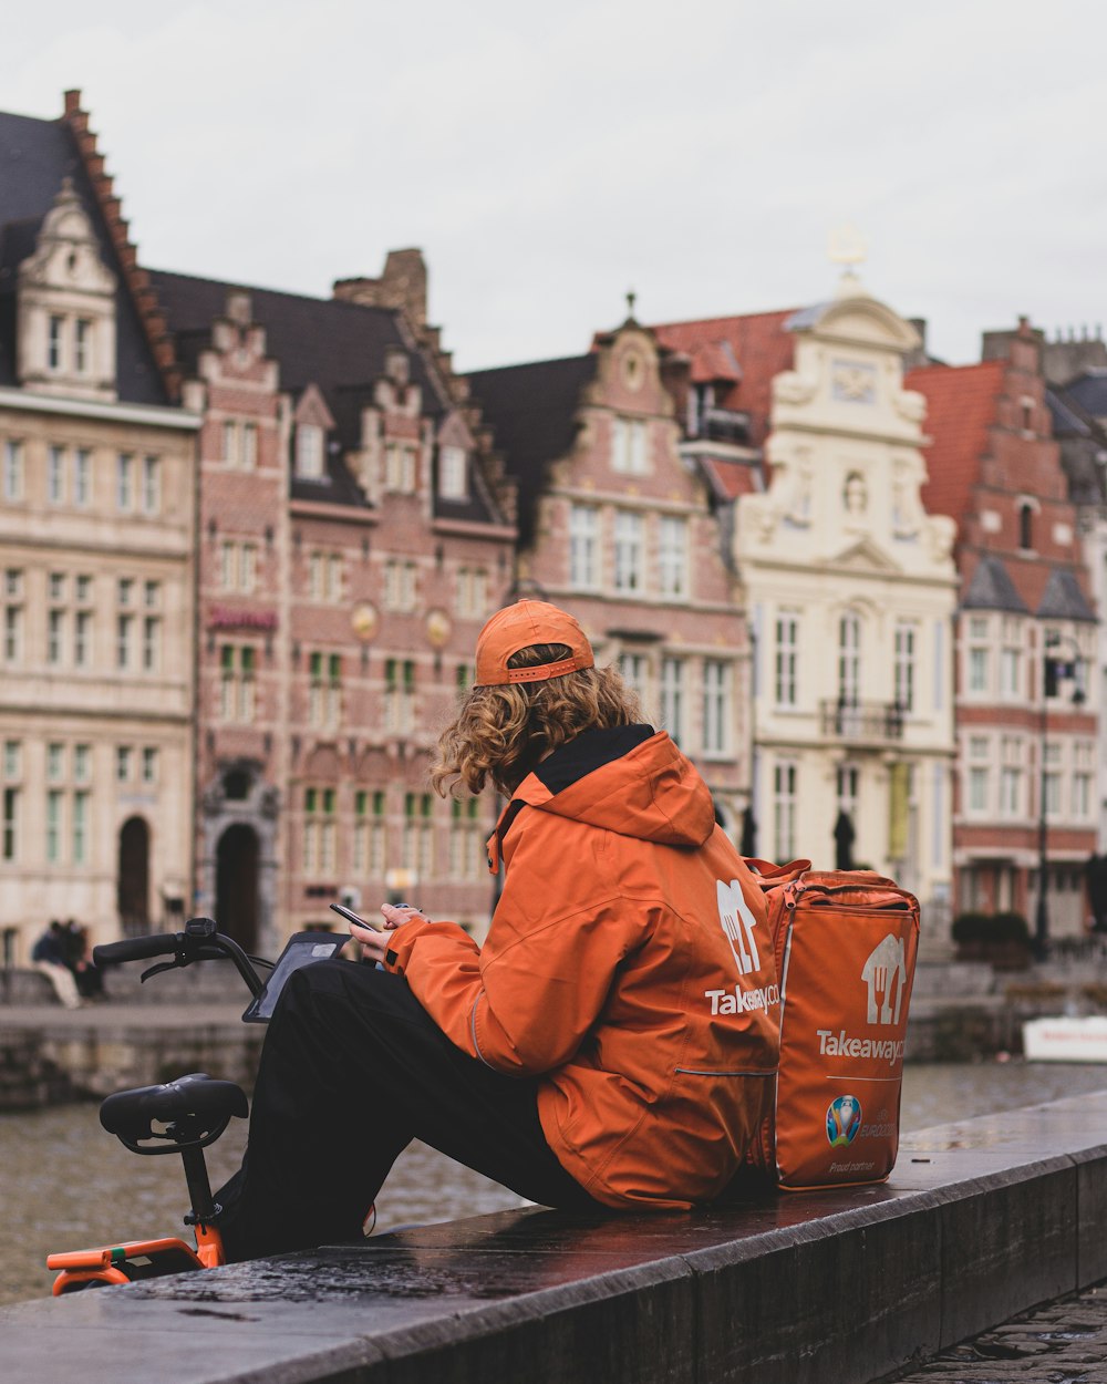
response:
{"label": "orange-red tiled roof slope just right of the cream building's gable", "polygon": [[980,458],[991,447],[989,429],[996,400],[1003,393],[1006,360],[978,365],[923,365],[904,379],[905,389],[926,394],[923,430],[931,439],[923,448],[927,482],[922,501],[927,513],[960,520],[980,473]]}

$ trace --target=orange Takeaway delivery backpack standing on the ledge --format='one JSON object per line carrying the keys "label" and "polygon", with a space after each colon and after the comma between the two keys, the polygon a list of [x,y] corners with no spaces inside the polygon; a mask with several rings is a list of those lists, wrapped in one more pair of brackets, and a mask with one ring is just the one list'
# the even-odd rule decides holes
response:
{"label": "orange Takeaway delivery backpack standing on the ledge", "polygon": [[883,1182],[899,1096],[919,901],[870,871],[747,861],[780,980],[780,1067],[754,1161],[786,1192]]}

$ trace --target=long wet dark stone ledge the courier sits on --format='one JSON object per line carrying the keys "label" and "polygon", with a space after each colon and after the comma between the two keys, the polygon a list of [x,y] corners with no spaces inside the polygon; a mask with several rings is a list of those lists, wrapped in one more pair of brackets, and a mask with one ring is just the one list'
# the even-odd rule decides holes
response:
{"label": "long wet dark stone ledge the courier sits on", "polygon": [[1104,1187],[1107,1092],[909,1135],[884,1186],[509,1211],[26,1302],[0,1312],[4,1363],[57,1384],[868,1384],[1103,1277]]}

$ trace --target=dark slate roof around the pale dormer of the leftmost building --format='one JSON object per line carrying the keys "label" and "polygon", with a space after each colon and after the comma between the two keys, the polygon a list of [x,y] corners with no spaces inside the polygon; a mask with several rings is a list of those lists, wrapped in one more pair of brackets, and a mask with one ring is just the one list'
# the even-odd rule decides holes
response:
{"label": "dark slate roof around the pale dormer of the leftmost building", "polygon": [[69,127],[0,112],[0,385],[15,385],[17,267],[35,249],[43,217],[62,179],[73,187],[91,217],[104,263],[118,275],[116,371],[119,399],[134,404],[167,403],[162,376],[147,343],[138,313],[100,215]]}

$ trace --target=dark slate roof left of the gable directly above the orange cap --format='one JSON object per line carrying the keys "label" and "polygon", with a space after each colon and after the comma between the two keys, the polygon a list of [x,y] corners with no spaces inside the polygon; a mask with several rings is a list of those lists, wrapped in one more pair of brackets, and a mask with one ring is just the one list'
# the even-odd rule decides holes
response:
{"label": "dark slate roof left of the gable directly above the orange cap", "polygon": [[490,424],[495,450],[519,483],[519,538],[530,543],[545,468],[565,457],[577,436],[577,410],[595,379],[598,356],[540,360],[529,365],[477,370],[469,375],[472,399]]}

